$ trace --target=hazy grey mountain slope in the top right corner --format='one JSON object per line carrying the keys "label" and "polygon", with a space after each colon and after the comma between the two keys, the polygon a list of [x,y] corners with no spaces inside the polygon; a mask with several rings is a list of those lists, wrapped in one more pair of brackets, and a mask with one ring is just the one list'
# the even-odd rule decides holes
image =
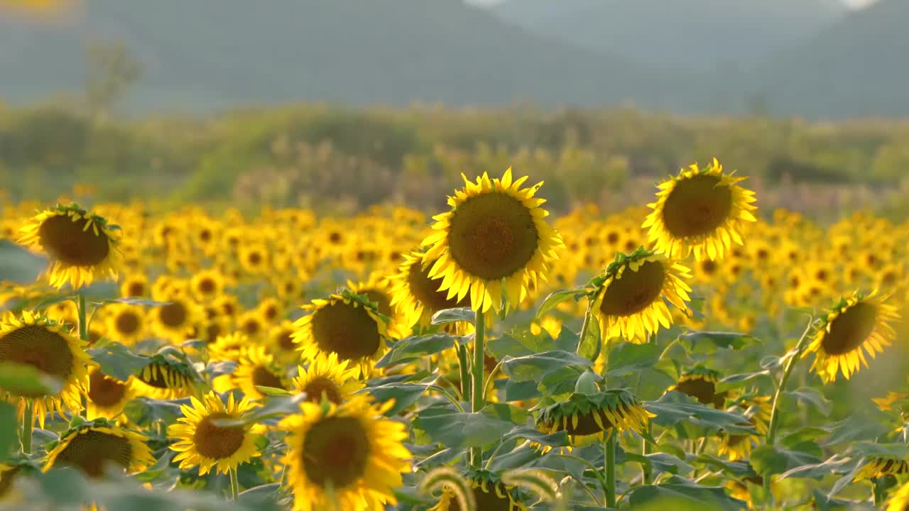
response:
{"label": "hazy grey mountain slope in the top right corner", "polygon": [[772,112],[909,115],[909,0],[879,0],[754,74]]}

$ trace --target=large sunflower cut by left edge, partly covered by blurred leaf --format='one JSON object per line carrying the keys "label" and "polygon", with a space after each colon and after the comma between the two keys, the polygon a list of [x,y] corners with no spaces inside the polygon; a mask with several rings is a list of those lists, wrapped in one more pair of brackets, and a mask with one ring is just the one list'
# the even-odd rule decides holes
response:
{"label": "large sunflower cut by left edge, partly covered by blurred leaf", "polygon": [[8,316],[0,328],[0,362],[33,366],[41,374],[60,382],[60,390],[53,395],[5,389],[19,397],[20,415],[24,413],[25,400],[33,400],[33,416],[42,428],[47,412],[56,411],[63,416],[65,410],[81,408],[80,388],[85,385],[88,376],[85,365],[92,364],[91,358],[85,353],[85,342],[47,317],[28,311],[22,316]]}

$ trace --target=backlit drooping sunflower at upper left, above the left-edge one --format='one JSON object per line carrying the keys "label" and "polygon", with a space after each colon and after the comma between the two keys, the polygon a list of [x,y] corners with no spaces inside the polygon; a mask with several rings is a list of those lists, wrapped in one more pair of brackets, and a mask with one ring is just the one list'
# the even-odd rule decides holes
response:
{"label": "backlit drooping sunflower at upper left, above the left-edge one", "polygon": [[116,280],[118,231],[118,226],[107,225],[104,218],[78,205],[55,205],[22,227],[19,243],[47,255],[51,286],[69,283],[79,289],[99,278]]}

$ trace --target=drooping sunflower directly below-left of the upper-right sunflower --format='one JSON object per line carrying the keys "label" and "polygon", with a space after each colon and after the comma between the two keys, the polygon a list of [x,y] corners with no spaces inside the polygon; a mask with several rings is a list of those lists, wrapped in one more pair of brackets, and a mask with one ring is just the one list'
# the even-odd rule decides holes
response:
{"label": "drooping sunflower directly below-left of the upper-right sunflower", "polygon": [[591,281],[592,314],[604,339],[622,337],[645,343],[647,337],[668,328],[672,315],[666,302],[686,310],[691,287],[688,268],[640,247],[630,255],[617,254],[602,276]]}

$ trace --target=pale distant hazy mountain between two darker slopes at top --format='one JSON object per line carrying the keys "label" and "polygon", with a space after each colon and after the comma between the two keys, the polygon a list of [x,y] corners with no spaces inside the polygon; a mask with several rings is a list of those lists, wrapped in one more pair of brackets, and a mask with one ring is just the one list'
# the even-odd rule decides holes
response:
{"label": "pale distant hazy mountain between two darker slopes at top", "polygon": [[839,0],[505,0],[504,21],[663,69],[754,67],[844,15]]}

